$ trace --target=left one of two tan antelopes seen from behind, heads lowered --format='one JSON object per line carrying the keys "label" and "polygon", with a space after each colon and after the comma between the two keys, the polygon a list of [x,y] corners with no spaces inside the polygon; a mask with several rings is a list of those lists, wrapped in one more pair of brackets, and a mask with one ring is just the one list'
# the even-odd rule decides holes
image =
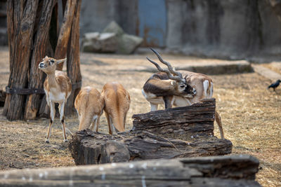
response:
{"label": "left one of two tan antelopes seen from behind, heads lowered", "polygon": [[90,86],[82,88],[74,102],[79,116],[79,130],[89,128],[98,132],[104,106],[105,101],[96,88]]}

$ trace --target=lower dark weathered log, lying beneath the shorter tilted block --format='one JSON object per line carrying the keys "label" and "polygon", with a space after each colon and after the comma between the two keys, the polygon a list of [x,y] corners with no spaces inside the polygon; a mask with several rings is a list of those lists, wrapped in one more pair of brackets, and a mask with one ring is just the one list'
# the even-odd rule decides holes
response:
{"label": "lower dark weathered log, lying beneath the shorter tilted block", "polygon": [[115,135],[91,130],[76,132],[69,144],[76,165],[125,162],[157,158],[185,158],[231,153],[232,143],[216,137],[195,137],[192,141],[164,139],[150,132],[122,132]]}

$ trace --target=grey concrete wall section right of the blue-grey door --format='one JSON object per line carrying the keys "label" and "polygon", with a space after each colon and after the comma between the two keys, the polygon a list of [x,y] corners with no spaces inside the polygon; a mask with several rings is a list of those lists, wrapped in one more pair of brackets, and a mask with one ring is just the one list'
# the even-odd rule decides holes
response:
{"label": "grey concrete wall section right of the blue-grey door", "polygon": [[268,0],[166,0],[166,47],[242,58],[281,54],[281,22]]}

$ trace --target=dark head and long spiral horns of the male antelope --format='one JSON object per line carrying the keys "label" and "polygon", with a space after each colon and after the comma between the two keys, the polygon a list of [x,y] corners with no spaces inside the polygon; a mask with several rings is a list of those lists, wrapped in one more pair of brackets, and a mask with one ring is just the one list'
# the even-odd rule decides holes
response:
{"label": "dark head and long spiral horns of the male antelope", "polygon": [[150,48],[155,55],[157,55],[158,59],[160,62],[165,64],[168,69],[162,69],[162,67],[159,66],[156,62],[150,60],[150,58],[146,57],[148,61],[150,61],[152,64],[155,64],[155,67],[161,71],[167,74],[169,79],[173,80],[171,82],[172,85],[174,85],[175,88],[175,95],[181,96],[181,97],[187,97],[187,98],[192,98],[196,94],[195,88],[192,88],[183,78],[182,74],[178,71],[176,71],[173,67],[171,67],[171,64],[169,62],[166,62],[162,59],[162,57],[159,55],[159,53],[156,50],[153,50]]}

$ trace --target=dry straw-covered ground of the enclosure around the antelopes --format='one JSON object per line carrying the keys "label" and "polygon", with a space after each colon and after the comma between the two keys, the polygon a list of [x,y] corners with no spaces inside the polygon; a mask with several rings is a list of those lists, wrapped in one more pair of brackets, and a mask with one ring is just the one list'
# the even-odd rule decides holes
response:
{"label": "dry straw-covered ground of the enclosure around the antelopes", "polygon": [[[164,58],[178,64],[203,61],[194,57],[169,55],[164,55]],[[8,82],[7,48],[0,48],[0,64],[0,89],[4,89]],[[105,83],[118,81],[129,91],[131,107],[126,130],[132,126],[133,113],[150,110],[141,88],[151,73],[130,70],[143,65],[149,65],[145,55],[81,54],[83,86],[91,85],[102,90]],[[277,92],[267,90],[270,81],[256,73],[211,78],[226,138],[233,142],[233,153],[247,153],[259,158],[260,170],[256,179],[262,186],[281,186],[281,88],[277,88]],[[2,111],[3,108],[0,108],[0,113]],[[67,116],[65,121],[72,132],[77,130],[77,114]],[[45,118],[8,121],[0,116],[0,169],[74,165],[67,143],[63,142],[59,120],[56,119],[53,125],[50,144],[44,143],[47,125],[48,120]],[[107,133],[105,116],[101,118],[100,132]],[[216,125],[214,133],[219,137]]]}

